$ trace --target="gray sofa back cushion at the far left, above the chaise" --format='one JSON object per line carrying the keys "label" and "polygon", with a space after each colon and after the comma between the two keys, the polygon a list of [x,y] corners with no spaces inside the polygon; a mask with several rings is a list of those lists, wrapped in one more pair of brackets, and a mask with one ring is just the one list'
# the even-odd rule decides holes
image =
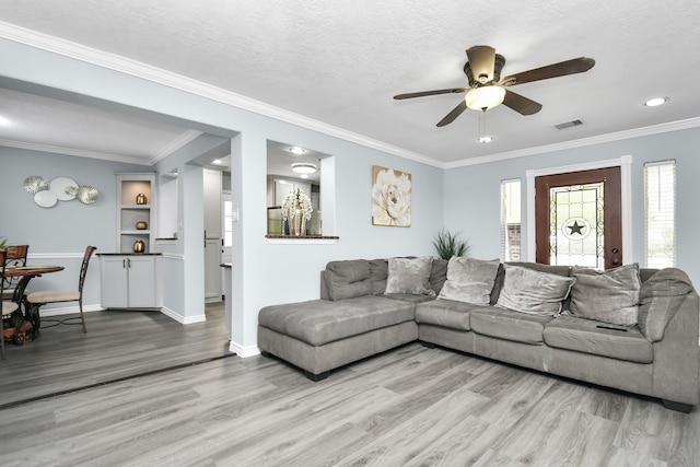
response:
{"label": "gray sofa back cushion at the far left, above the chaise", "polygon": [[328,297],[334,301],[372,294],[370,261],[365,259],[330,261],[324,280]]}

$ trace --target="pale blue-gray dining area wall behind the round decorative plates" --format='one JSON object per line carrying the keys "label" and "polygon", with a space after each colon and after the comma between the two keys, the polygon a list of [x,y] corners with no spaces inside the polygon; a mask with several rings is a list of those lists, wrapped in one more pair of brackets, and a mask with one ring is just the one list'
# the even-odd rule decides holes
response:
{"label": "pale blue-gray dining area wall behind the round decorative plates", "polygon": [[[150,167],[121,164],[66,154],[46,153],[0,147],[0,237],[9,243],[30,245],[33,264],[59,264],[61,272],[33,279],[31,289],[74,289],[80,264],[88,245],[96,253],[116,250],[116,174],[148,172]],[[78,200],[58,201],[52,208],[42,208],[34,195],[24,189],[24,179],[40,175],[48,180],[69,177],[79,185],[92,185],[100,190],[93,205]],[[84,303],[100,305],[100,266],[95,257],[85,283]],[[45,310],[50,307],[47,305]]]}

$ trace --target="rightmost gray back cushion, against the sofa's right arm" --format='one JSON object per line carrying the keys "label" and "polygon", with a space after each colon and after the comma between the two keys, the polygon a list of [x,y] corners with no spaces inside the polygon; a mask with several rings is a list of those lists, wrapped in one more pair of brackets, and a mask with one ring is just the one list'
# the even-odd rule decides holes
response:
{"label": "rightmost gray back cushion, against the sofa's right arm", "polygon": [[664,338],[666,326],[692,291],[688,276],[677,268],[654,273],[639,291],[639,328],[652,342]]}

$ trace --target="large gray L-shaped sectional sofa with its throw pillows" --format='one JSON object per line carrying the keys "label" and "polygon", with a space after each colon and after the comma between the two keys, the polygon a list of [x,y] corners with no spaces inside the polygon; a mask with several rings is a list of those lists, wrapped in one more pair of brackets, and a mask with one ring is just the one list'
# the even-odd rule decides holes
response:
{"label": "large gray L-shaped sectional sofa with its throw pillows", "polygon": [[266,306],[258,348],[319,381],[420,340],[661,398],[700,399],[699,299],[679,269],[471,258],[330,261],[320,299]]}

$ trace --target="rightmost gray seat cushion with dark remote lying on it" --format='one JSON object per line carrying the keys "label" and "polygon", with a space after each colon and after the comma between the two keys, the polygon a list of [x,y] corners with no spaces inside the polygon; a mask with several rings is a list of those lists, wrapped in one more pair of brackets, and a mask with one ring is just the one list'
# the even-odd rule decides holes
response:
{"label": "rightmost gray seat cushion with dark remote lying on it", "polygon": [[545,343],[558,349],[637,363],[651,363],[654,360],[652,343],[637,326],[617,326],[621,330],[598,327],[606,325],[592,319],[560,316],[545,327]]}

